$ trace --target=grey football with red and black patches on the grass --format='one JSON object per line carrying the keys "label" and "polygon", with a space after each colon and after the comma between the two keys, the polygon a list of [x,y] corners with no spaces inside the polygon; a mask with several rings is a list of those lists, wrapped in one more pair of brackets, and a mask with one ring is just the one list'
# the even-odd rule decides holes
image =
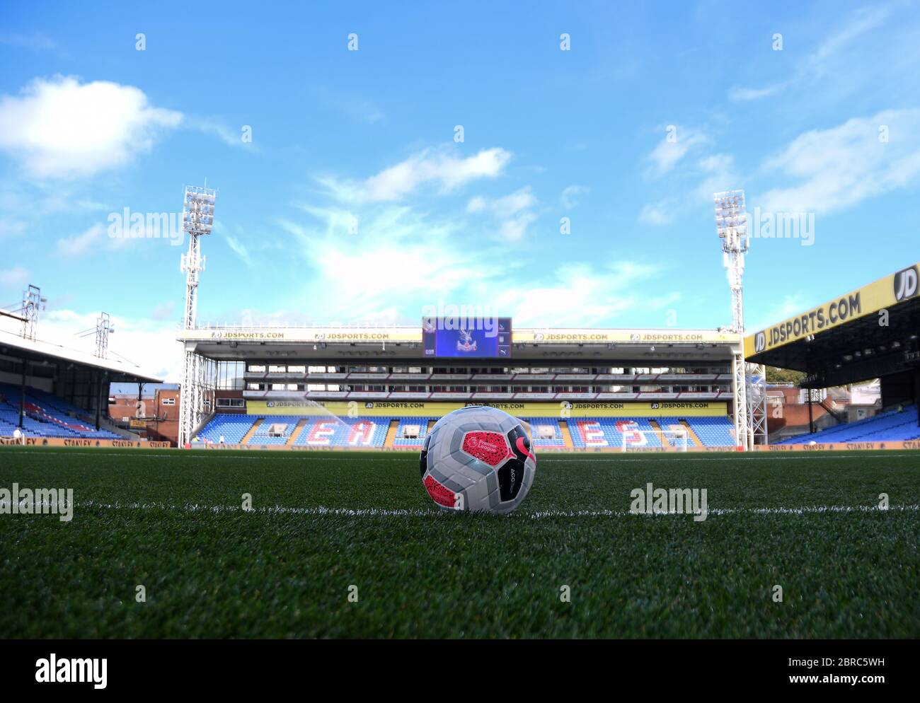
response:
{"label": "grey football with red and black patches on the grass", "polygon": [[510,513],[534,483],[536,457],[520,420],[469,405],[431,427],[420,466],[422,485],[444,510]]}

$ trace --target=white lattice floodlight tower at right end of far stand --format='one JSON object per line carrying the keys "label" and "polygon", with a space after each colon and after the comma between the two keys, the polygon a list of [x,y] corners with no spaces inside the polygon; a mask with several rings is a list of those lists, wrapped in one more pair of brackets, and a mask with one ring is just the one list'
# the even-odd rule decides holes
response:
{"label": "white lattice floodlight tower at right end of far stand", "polygon": [[[743,190],[727,190],[713,195],[716,232],[722,240],[722,264],[731,291],[730,332],[744,334],[744,255],[751,248]],[[745,449],[766,444],[765,368],[744,361],[743,346],[732,353],[732,391],[734,394],[735,438]]]}

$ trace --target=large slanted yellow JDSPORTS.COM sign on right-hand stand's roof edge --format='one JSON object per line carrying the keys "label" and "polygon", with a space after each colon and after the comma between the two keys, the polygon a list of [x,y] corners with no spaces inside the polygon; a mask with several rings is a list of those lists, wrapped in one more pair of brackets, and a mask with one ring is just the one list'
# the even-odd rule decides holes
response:
{"label": "large slanted yellow JDSPORTS.COM sign on right-hand stand's roof edge", "polygon": [[898,303],[915,298],[918,292],[920,264],[880,278],[860,289],[845,293],[823,305],[774,324],[744,340],[744,356],[775,349],[777,346],[797,342],[810,334],[818,334],[839,327],[860,317],[878,314]]}

